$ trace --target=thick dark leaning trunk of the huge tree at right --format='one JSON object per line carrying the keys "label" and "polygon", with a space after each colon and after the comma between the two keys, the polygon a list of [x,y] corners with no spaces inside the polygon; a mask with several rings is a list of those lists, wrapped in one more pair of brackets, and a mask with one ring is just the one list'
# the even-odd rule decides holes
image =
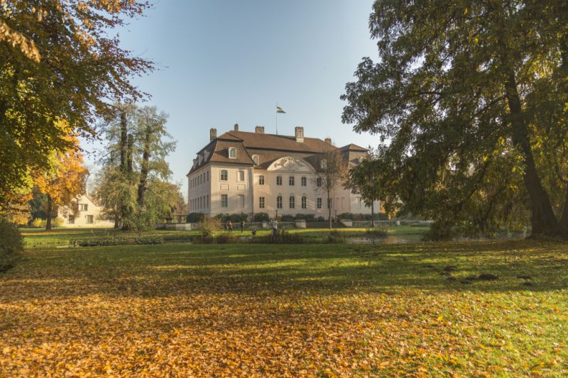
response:
{"label": "thick dark leaning trunk of the huge tree at right", "polygon": [[548,196],[540,177],[538,177],[532,150],[530,149],[530,136],[528,127],[520,105],[515,74],[509,73],[505,81],[505,91],[509,105],[510,124],[513,128],[513,144],[523,155],[525,162],[525,173],[523,180],[530,196],[532,207],[532,235],[545,234],[553,235],[557,226],[557,219],[550,197]]}

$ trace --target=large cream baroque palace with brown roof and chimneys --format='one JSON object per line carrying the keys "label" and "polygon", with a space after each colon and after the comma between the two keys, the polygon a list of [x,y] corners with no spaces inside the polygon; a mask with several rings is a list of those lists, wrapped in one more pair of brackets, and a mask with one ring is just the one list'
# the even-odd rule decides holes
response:
{"label": "large cream baroque palace with brown roof and chimneys", "polygon": [[[332,145],[327,138],[307,138],[304,128],[295,135],[234,130],[217,136],[212,128],[207,144],[187,174],[189,213],[268,213],[271,217],[313,214],[327,218],[327,193],[318,179],[322,152]],[[365,148],[349,144],[337,148],[346,165],[368,156]],[[332,216],[371,213],[361,197],[338,183],[331,200]],[[378,207],[376,208],[378,209]]]}

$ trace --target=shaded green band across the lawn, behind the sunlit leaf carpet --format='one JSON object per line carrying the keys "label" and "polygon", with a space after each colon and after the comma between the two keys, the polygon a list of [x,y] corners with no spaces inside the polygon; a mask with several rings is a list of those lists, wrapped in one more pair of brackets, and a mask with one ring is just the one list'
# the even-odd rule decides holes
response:
{"label": "shaded green band across the lawn, behind the sunlit leaf carpet", "polygon": [[[472,279],[479,274],[498,279]],[[567,277],[561,243],[131,245],[28,251],[0,276],[0,292],[54,298],[552,291],[568,287]]]}

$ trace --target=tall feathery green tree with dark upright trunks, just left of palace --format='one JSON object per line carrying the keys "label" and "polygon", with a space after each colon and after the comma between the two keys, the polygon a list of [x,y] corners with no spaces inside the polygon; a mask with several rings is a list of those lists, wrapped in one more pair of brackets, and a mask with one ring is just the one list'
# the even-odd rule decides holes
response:
{"label": "tall feathery green tree with dark upright trunks, just left of palace", "polygon": [[147,228],[173,214],[182,201],[170,184],[165,158],[175,149],[165,123],[168,115],[154,106],[116,106],[119,116],[107,118],[107,147],[97,176],[97,197],[103,216],[124,230]]}

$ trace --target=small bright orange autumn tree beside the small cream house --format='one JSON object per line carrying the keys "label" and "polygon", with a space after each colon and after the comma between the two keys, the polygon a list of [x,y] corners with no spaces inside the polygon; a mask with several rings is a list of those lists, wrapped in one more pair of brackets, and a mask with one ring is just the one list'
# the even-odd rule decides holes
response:
{"label": "small bright orange autumn tree beside the small cream house", "polygon": [[35,185],[46,196],[45,230],[51,230],[51,218],[57,216],[59,206],[68,205],[72,199],[84,193],[87,169],[79,150],[79,141],[75,138],[65,153],[55,153],[55,169],[40,173],[35,177]]}

